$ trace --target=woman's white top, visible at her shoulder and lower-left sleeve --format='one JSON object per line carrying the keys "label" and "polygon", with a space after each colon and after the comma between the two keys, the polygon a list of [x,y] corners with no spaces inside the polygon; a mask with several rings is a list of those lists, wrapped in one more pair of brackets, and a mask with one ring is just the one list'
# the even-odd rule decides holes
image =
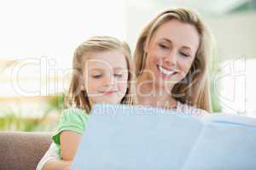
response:
{"label": "woman's white top, visible at her shoulder and lower-left sleeve", "polygon": [[[185,105],[180,102],[177,102],[177,111],[182,112],[184,114],[189,114],[191,116],[195,116],[196,118],[199,118],[199,119],[201,119],[203,116],[205,116],[208,113],[207,111],[195,108],[195,106]],[[58,154],[58,148],[55,143],[50,144],[49,150],[46,151],[42,159],[39,161],[38,167],[36,170],[43,169],[44,164],[51,159],[61,160]]]}

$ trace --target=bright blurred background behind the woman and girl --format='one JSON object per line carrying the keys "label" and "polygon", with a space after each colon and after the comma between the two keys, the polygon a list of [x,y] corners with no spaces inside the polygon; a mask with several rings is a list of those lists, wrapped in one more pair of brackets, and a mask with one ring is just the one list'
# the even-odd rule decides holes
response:
{"label": "bright blurred background behind the woman and girl", "polygon": [[256,0],[9,0],[0,3],[0,131],[54,130],[79,43],[108,35],[133,50],[143,26],[172,7],[197,11],[215,37],[213,111],[256,116]]}

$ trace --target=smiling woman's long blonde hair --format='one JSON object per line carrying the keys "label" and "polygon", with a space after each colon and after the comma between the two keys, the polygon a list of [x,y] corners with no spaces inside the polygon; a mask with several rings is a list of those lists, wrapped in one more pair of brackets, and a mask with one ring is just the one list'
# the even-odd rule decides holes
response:
{"label": "smiling woman's long blonde hair", "polygon": [[[207,69],[209,67],[209,58],[212,54],[212,37],[199,15],[188,8],[166,9],[158,14],[154,20],[151,20],[143,29],[143,32],[138,38],[134,54],[136,74],[140,76],[145,68],[147,54],[144,52],[144,46],[148,45],[154,32],[169,20],[179,20],[195,26],[200,36],[200,45],[195,54],[195,60],[186,77],[180,81],[188,83],[177,82],[174,88],[172,88],[172,95],[183,104],[196,105],[200,109],[211,111]],[[184,95],[175,96],[175,94]]]}

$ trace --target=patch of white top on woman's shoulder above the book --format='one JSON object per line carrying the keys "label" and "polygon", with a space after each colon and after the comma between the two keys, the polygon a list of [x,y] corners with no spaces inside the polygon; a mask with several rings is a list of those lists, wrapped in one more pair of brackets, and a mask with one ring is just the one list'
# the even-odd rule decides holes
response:
{"label": "patch of white top on woman's shoulder above the book", "polygon": [[209,112],[197,108],[193,105],[187,105],[187,104],[182,104],[177,101],[177,111],[182,112],[183,114],[188,114],[191,116],[195,116],[196,118],[202,118],[203,116],[206,116],[209,114]]}

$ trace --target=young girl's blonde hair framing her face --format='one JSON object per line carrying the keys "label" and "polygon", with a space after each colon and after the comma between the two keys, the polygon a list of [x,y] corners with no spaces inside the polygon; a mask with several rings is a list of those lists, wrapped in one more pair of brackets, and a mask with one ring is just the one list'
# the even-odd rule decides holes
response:
{"label": "young girl's blonde hair framing her face", "polygon": [[69,86],[68,94],[65,99],[67,107],[75,105],[80,109],[84,109],[88,114],[91,110],[89,97],[86,91],[81,89],[84,77],[84,64],[86,54],[105,52],[109,50],[120,50],[125,55],[128,68],[128,88],[125,96],[121,99],[121,104],[132,105],[134,103],[134,68],[131,65],[131,50],[126,42],[120,42],[114,37],[91,37],[82,42],[76,48],[73,55],[73,75]]}

